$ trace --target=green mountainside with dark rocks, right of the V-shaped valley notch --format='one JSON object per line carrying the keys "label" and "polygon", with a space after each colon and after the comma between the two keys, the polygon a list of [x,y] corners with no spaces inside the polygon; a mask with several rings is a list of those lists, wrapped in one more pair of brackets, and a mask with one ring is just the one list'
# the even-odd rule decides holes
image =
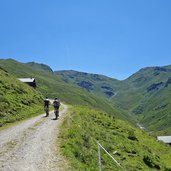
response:
{"label": "green mountainside with dark rocks, right of the V-shaped valley notch", "polygon": [[157,134],[169,135],[171,84],[167,83],[170,77],[171,66],[144,68],[124,81],[125,85],[129,85],[127,90],[124,87],[125,90],[122,89],[122,93],[118,93],[113,100],[120,101],[148,129]]}

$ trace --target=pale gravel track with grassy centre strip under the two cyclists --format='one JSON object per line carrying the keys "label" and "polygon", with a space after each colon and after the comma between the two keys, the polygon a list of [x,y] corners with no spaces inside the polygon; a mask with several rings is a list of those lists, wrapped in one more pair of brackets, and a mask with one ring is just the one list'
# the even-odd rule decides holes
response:
{"label": "pale gravel track with grassy centre strip under the two cyclists", "polygon": [[24,121],[0,132],[1,171],[66,171],[69,167],[60,154],[56,142],[58,128],[67,106],[62,105],[58,120],[54,113]]}

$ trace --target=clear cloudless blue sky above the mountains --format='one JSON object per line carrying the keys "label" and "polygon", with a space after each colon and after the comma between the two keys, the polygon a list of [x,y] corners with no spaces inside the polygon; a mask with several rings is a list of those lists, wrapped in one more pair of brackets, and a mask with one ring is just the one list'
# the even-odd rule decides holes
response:
{"label": "clear cloudless blue sky above the mountains", "polygon": [[0,58],[125,79],[171,64],[170,0],[0,0]]}

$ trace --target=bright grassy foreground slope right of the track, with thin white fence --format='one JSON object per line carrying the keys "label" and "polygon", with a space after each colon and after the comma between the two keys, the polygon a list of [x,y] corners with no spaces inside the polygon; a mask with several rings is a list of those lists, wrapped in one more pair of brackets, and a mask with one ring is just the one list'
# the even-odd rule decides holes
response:
{"label": "bright grassy foreground slope right of the track, with thin white fence", "polygon": [[[72,107],[60,130],[61,150],[73,170],[98,171],[97,141],[129,171],[171,170],[171,148],[108,114]],[[101,151],[103,170],[119,170]]]}

